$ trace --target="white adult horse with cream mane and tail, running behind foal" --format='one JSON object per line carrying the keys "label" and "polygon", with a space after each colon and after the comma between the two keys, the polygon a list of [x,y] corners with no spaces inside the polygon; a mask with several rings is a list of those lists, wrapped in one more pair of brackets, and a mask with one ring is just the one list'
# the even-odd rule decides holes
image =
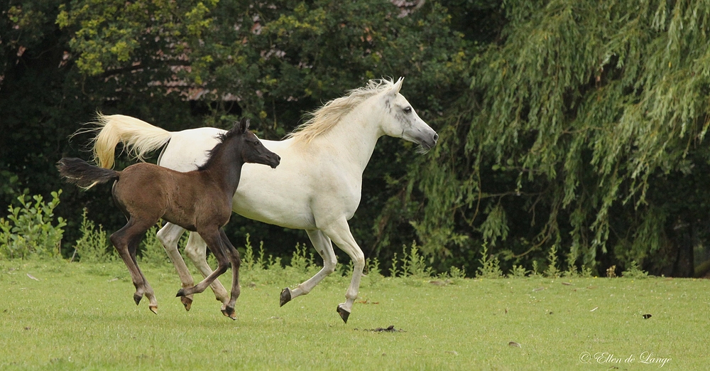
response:
{"label": "white adult horse with cream mane and tail, running behind foal", "polygon": [[[435,146],[439,135],[399,94],[403,78],[392,82],[371,80],[366,87],[324,104],[305,124],[283,141],[263,141],[264,146],[281,158],[278,168],[244,164],[239,188],[234,194],[234,213],[253,220],[307,232],[323,258],[323,268],[295,289],[281,291],[280,305],[308,294],[322,279],[335,270],[337,259],[332,242],[354,262],[346,301],[337,311],[347,323],[357,298],[364,254],[350,232],[348,220],[360,203],[362,173],[377,139],[383,135],[419,144],[425,151]],[[133,117],[99,116],[99,134],[94,138],[94,156],[102,167],[114,163],[114,149],[123,142],[137,158],[168,144],[158,164],[178,171],[194,170],[207,158],[207,151],[217,144],[224,130],[210,127],[183,131],[165,131]],[[182,287],[194,285],[192,276],[178,252],[178,240],[185,229],[167,223],[158,239],[175,265]],[[212,273],[205,259],[205,243],[192,232],[185,254],[202,275]],[[219,281],[212,285],[217,300],[229,301]],[[182,299],[190,310],[192,299]]]}

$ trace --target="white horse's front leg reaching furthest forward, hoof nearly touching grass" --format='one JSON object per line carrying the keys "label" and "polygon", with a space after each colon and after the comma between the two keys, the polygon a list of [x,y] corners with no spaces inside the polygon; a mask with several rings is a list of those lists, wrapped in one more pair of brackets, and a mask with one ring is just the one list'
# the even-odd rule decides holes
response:
{"label": "white horse's front leg reaching furthest forward, hoof nearly touching grass", "polygon": [[335,244],[340,247],[350,259],[352,259],[353,276],[350,281],[350,286],[348,290],[345,291],[345,303],[338,304],[337,311],[340,314],[340,318],[343,318],[345,323],[348,322],[348,317],[353,308],[353,303],[357,299],[357,294],[360,289],[360,279],[362,277],[362,269],[365,267],[365,255],[358,246],[357,242],[353,238],[350,232],[350,227],[348,226],[347,220],[342,218],[336,220],[331,224],[324,227],[323,232],[330,237]]}

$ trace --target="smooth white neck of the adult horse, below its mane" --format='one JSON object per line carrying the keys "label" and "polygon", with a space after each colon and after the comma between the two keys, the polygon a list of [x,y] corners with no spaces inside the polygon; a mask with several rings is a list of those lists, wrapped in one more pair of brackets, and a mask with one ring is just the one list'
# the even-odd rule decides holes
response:
{"label": "smooth white neck of the adult horse, below its mane", "polygon": [[378,117],[379,114],[375,109],[369,107],[355,109],[313,141],[331,147],[336,158],[356,166],[362,174],[370,161],[377,140],[383,135],[378,125]]}

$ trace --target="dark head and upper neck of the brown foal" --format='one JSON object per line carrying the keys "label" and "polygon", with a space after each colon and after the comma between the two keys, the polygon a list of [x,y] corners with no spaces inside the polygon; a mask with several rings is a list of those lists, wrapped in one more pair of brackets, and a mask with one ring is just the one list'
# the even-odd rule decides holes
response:
{"label": "dark head and upper neck of the brown foal", "polygon": [[249,131],[249,119],[241,119],[233,128],[219,136],[219,144],[209,151],[207,162],[199,169],[209,168],[211,163],[216,161],[214,158],[226,154],[230,149],[233,151],[231,156],[236,156],[236,161],[242,163],[261,163],[275,168],[281,161],[277,154],[266,149],[256,135]]}

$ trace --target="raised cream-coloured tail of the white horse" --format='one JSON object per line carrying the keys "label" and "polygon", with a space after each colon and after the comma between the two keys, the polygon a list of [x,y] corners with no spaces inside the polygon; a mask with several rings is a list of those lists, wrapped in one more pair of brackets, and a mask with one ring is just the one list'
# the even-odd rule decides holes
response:
{"label": "raised cream-coloured tail of the white horse", "polygon": [[124,145],[124,151],[127,151],[130,156],[143,161],[148,152],[159,149],[168,143],[170,136],[173,136],[170,131],[122,114],[110,116],[98,114],[97,121],[93,124],[97,127],[77,131],[77,134],[99,132],[92,139],[92,152],[94,161],[102,168],[114,167],[114,151],[119,142]]}

